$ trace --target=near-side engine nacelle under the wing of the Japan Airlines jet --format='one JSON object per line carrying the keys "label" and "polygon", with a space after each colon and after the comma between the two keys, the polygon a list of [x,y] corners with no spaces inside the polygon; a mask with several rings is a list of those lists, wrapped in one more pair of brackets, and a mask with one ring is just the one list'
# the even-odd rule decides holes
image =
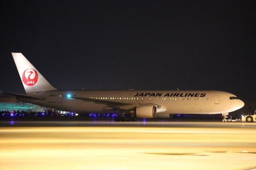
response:
{"label": "near-side engine nacelle under the wing of the Japan Airlines jet", "polygon": [[155,106],[136,107],[136,116],[138,118],[154,118],[156,117],[156,107]]}

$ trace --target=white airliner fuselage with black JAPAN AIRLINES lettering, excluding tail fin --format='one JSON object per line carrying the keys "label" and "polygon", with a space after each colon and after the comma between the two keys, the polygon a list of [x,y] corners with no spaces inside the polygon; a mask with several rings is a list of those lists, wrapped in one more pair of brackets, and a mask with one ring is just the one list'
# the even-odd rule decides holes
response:
{"label": "white airliner fuselage with black JAPAN AIRLINES lettering, excluding tail fin", "polygon": [[[20,97],[18,99],[44,107],[78,113],[116,112],[110,105],[66,97],[69,94],[107,101],[138,104],[153,103],[161,106],[157,109],[157,113],[163,114],[229,113],[244,106],[243,101],[240,99],[230,99],[230,97],[236,96],[224,91],[51,90],[28,94],[42,97],[44,98],[43,100],[31,100]],[[126,105],[119,109],[128,110],[134,107],[136,105]]]}

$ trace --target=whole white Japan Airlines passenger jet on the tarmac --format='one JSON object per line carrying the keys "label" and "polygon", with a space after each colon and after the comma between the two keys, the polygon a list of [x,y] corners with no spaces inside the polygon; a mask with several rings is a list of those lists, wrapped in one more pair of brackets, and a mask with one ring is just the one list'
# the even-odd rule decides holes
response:
{"label": "whole white Japan Airlines passenger jet on the tarmac", "polygon": [[60,90],[22,55],[12,53],[26,94],[6,93],[19,101],[75,113],[118,113],[115,121],[172,117],[173,114],[222,114],[244,106],[224,91]]}

